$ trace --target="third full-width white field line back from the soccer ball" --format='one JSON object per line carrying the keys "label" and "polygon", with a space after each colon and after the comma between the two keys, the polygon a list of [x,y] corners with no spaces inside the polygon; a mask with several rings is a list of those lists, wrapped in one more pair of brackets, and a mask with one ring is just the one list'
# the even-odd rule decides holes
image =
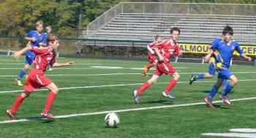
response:
{"label": "third full-width white field line back from the soccer ball", "polygon": [[[101,68],[103,69],[103,68]],[[198,74],[198,73],[182,73],[180,70],[177,70],[179,74]],[[244,74],[244,73],[256,73],[256,71],[242,71],[242,72],[233,72],[234,74]],[[139,75],[140,73],[105,73],[105,74],[45,74],[45,76],[116,76],[116,75]],[[152,73],[148,73],[152,75]],[[17,76],[17,75],[15,75]],[[0,76],[0,77],[15,77],[15,76]]]}

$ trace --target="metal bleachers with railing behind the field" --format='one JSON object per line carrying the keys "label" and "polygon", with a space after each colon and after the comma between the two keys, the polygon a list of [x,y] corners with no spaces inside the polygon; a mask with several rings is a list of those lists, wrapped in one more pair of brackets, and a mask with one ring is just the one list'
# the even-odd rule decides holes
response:
{"label": "metal bleachers with railing behind the field", "polygon": [[94,40],[86,41],[87,46],[146,46],[156,35],[169,38],[170,28],[178,27],[179,43],[210,44],[230,25],[236,41],[254,45],[255,10],[250,4],[121,2],[90,23],[81,37]]}

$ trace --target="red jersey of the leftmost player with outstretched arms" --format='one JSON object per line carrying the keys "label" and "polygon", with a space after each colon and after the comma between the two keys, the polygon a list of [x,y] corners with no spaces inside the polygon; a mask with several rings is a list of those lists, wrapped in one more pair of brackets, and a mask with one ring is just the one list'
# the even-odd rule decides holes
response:
{"label": "red jersey of the leftmost player with outstretched arms", "polygon": [[30,49],[31,52],[36,54],[34,59],[34,68],[36,68],[39,72],[45,72],[49,63],[51,66],[56,63],[56,54],[55,52],[50,52],[48,47],[31,46]]}

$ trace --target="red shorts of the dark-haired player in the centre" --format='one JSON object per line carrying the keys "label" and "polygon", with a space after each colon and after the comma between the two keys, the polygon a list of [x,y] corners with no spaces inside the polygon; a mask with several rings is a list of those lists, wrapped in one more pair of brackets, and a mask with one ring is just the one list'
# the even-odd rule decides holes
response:
{"label": "red shorts of the dark-haired player in the centre", "polygon": [[161,64],[157,64],[156,70],[154,70],[154,75],[162,76],[163,73],[166,75],[173,75],[176,70],[167,62],[163,62]]}

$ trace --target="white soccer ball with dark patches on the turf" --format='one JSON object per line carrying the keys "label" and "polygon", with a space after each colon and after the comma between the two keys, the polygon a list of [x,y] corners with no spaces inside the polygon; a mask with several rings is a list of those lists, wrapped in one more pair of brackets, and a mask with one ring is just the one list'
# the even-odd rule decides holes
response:
{"label": "white soccer ball with dark patches on the turf", "polygon": [[105,116],[105,124],[109,127],[116,127],[120,123],[120,118],[117,113],[108,113]]}

